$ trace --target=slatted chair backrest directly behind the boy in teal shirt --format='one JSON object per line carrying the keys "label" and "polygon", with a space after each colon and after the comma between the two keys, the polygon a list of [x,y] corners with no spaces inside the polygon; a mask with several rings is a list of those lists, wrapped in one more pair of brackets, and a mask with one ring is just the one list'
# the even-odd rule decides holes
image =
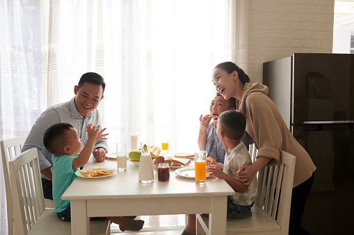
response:
{"label": "slatted chair backrest directly behind the boy in teal shirt", "polygon": [[45,211],[37,149],[26,150],[10,160],[9,171],[15,232],[27,234]]}

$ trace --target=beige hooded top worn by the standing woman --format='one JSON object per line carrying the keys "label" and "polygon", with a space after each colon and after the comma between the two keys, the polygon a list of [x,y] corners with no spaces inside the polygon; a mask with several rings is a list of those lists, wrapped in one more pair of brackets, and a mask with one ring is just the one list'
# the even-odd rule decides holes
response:
{"label": "beige hooded top worn by the standing woman", "polygon": [[[268,166],[279,163],[280,150],[296,157],[293,187],[305,182],[316,171],[306,150],[296,141],[277,107],[268,97],[268,87],[255,82],[243,87],[242,100],[236,107],[247,119],[246,131],[258,149],[257,157],[270,157]],[[250,141],[251,142],[251,141]]]}

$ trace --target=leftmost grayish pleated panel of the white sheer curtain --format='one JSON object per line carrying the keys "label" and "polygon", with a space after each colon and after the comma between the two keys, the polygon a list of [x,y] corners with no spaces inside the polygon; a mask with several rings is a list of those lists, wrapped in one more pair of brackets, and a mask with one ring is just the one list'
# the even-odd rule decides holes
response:
{"label": "leftmost grayish pleated panel of the white sheer curtain", "polygon": [[[0,139],[22,136],[47,107],[40,12],[33,1],[0,1]],[[8,234],[0,162],[0,233]]]}

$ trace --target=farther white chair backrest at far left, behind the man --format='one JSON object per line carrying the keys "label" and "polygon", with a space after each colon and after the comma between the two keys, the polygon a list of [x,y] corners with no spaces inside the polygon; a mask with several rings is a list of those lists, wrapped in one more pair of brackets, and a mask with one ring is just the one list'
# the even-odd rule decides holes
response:
{"label": "farther white chair backrest at far left, behind the man", "polygon": [[5,179],[6,189],[6,205],[8,214],[8,234],[13,234],[13,198],[11,196],[10,175],[8,172],[8,162],[15,156],[19,155],[22,146],[26,141],[26,136],[15,137],[12,139],[5,139],[0,142],[1,146],[1,159],[3,164],[3,177]]}

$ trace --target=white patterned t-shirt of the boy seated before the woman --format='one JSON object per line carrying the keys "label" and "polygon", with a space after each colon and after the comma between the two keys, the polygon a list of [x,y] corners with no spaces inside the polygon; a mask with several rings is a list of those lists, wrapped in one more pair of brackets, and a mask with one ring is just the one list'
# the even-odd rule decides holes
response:
{"label": "white patterned t-shirt of the boy seated before the woman", "polygon": [[[225,154],[223,172],[237,178],[236,172],[239,171],[239,168],[243,165],[250,164],[252,164],[250,153],[248,153],[246,146],[240,142],[235,148]],[[241,206],[248,206],[249,204],[252,204],[257,196],[257,188],[258,180],[255,177],[248,186],[248,190],[246,192],[242,193],[235,190],[236,193],[232,197],[232,202]]]}

